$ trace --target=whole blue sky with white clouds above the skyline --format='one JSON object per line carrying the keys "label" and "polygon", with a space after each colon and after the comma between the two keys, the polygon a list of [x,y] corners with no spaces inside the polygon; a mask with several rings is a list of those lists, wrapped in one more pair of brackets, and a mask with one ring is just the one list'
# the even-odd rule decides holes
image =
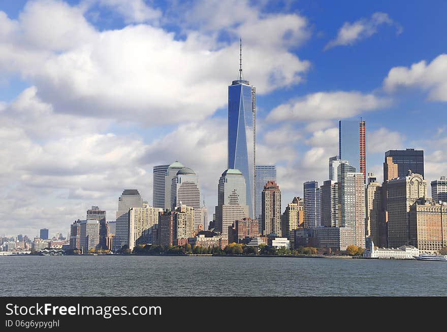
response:
{"label": "whole blue sky with white clouds above the skyline", "polygon": [[[424,149],[445,174],[447,3],[9,1],[0,4],[0,234],[68,232],[153,165],[196,170],[210,213],[226,168],[227,85],[257,87],[257,156],[282,205],[327,179],[337,120],[366,120],[367,171]],[[430,196],[430,194],[429,194]]]}

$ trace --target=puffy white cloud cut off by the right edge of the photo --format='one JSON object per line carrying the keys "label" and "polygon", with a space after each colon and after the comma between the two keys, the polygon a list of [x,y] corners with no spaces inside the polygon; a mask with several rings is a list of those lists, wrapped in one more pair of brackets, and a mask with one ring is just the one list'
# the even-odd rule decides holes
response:
{"label": "puffy white cloud cut off by the right edge of the photo", "polygon": [[399,87],[417,87],[429,92],[429,99],[447,101],[447,54],[438,55],[429,64],[425,60],[411,67],[394,67],[384,80],[390,93]]}

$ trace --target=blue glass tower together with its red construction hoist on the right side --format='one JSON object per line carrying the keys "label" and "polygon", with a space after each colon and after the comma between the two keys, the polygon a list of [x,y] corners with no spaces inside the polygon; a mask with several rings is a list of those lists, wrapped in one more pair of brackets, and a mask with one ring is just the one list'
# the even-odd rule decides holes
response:
{"label": "blue glass tower together with its red construction hoist on the right side", "polygon": [[366,179],[366,125],[365,121],[338,122],[338,158],[347,160]]}

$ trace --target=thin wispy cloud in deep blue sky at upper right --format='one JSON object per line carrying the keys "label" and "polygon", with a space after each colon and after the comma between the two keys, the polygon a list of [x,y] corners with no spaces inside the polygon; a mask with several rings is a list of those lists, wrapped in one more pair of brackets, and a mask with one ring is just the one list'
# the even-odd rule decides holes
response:
{"label": "thin wispy cloud in deep blue sky at upper right", "polygon": [[376,12],[371,18],[362,18],[353,23],[344,22],[343,26],[338,30],[334,40],[326,44],[325,50],[336,46],[353,45],[363,39],[369,38],[380,25],[392,25],[397,29],[397,34],[402,32],[402,27],[392,20],[387,13]]}

